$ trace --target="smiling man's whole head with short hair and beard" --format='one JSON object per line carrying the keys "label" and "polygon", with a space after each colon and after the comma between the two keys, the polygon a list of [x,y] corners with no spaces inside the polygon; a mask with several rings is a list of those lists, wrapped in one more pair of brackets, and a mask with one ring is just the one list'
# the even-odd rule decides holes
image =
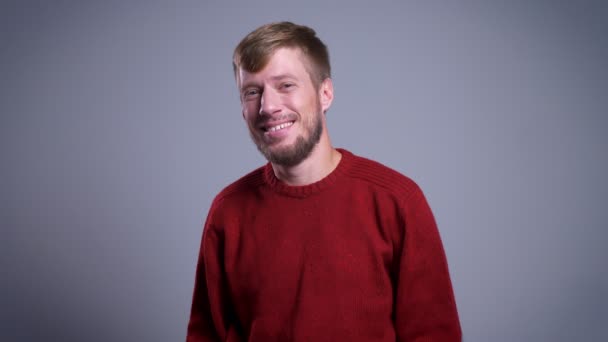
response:
{"label": "smiling man's whole head with short hair and beard", "polygon": [[264,25],[234,53],[243,118],[270,162],[295,166],[325,133],[333,100],[327,48],[315,32],[292,23]]}

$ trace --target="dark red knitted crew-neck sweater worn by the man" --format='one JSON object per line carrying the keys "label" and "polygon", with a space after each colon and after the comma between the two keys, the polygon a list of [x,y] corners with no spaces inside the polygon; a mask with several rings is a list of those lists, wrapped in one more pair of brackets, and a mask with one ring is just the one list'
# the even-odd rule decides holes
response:
{"label": "dark red knitted crew-neck sweater worn by the man", "polygon": [[217,195],[187,341],[460,341],[445,253],[420,188],[340,149],[326,178],[270,164]]}

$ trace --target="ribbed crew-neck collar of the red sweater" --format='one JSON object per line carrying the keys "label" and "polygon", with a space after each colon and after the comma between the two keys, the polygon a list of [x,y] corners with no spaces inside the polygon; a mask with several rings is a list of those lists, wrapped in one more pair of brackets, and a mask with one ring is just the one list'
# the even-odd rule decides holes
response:
{"label": "ribbed crew-neck collar of the red sweater", "polygon": [[340,162],[330,174],[317,182],[308,185],[287,185],[277,178],[270,163],[267,163],[264,166],[264,181],[273,191],[286,196],[303,198],[319,193],[335,184],[336,181],[345,174],[353,162],[354,156],[351,152],[342,148],[337,148],[337,150],[342,154]]}

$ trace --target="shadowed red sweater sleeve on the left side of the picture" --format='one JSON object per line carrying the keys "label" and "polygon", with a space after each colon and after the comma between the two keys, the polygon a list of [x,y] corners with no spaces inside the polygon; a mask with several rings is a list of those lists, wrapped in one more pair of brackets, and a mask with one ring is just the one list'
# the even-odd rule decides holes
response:
{"label": "shadowed red sweater sleeve on the left side of the picture", "polygon": [[222,255],[222,234],[206,224],[196,269],[186,342],[219,342],[227,339],[230,305]]}

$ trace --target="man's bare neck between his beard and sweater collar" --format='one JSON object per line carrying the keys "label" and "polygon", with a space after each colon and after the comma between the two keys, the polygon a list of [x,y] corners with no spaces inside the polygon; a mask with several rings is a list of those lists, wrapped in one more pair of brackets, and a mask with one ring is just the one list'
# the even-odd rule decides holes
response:
{"label": "man's bare neck between his beard and sweater collar", "polygon": [[329,175],[340,162],[342,155],[332,147],[326,134],[312,150],[310,156],[295,166],[272,164],[275,176],[288,185],[302,186],[320,181]]}

